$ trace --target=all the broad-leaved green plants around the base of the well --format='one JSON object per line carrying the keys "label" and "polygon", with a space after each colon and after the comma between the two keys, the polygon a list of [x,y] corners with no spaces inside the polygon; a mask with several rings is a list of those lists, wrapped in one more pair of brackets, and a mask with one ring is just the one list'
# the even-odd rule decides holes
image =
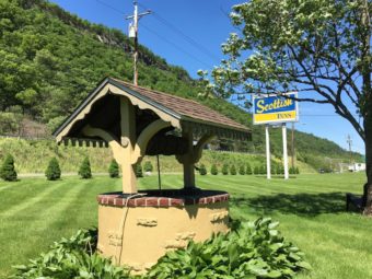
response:
{"label": "all the broad-leaved green plants around the base of the well", "polygon": [[259,218],[234,221],[226,234],[214,234],[202,243],[167,252],[144,275],[131,275],[129,267],[116,267],[96,253],[97,231],[81,230],[71,239],[55,243],[48,253],[16,266],[14,279],[243,279],[294,278],[310,270],[304,254],[277,229],[278,222]]}

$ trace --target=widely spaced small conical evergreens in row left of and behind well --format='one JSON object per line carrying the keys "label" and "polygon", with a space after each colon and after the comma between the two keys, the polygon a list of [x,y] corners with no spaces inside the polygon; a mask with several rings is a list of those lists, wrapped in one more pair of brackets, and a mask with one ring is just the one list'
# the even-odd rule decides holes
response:
{"label": "widely spaced small conical evergreens in row left of and behind well", "polygon": [[[151,162],[146,162],[143,166],[144,172],[152,172],[153,166]],[[91,162],[89,158],[84,158],[84,160],[81,162],[81,165],[79,167],[78,174],[81,178],[88,179],[92,178],[92,170],[91,170]],[[113,160],[108,166],[108,175],[109,177],[116,178],[119,177],[119,165],[118,163]],[[142,166],[141,164],[136,165],[136,175],[137,177],[142,177]],[[61,177],[61,170],[59,166],[59,162],[56,158],[53,158],[49,161],[49,164],[45,171],[45,176],[48,181],[57,181]],[[14,167],[14,159],[11,154],[8,154],[0,167],[0,178],[7,181],[7,182],[15,182],[18,181],[18,174]]]}

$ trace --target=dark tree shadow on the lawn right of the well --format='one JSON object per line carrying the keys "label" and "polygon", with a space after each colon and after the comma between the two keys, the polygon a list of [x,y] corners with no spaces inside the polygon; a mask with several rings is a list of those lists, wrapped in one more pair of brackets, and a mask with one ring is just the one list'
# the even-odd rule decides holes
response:
{"label": "dark tree shadow on the lawn right of the well", "polygon": [[245,208],[253,209],[261,214],[279,212],[315,217],[323,213],[340,213],[346,211],[345,193],[336,191],[293,195],[278,194],[254,198],[235,196],[231,197],[230,205],[241,210]]}

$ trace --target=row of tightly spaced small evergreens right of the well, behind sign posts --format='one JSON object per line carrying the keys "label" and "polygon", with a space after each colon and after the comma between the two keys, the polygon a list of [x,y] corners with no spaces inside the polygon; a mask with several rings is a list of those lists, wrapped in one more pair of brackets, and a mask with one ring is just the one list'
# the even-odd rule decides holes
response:
{"label": "row of tightly spaced small evergreens right of the well, behind sign posts", "polygon": [[[199,174],[200,175],[206,175],[208,174],[207,167],[205,164],[200,164],[200,166],[198,167]],[[212,175],[218,175],[219,172],[221,171],[221,173],[223,175],[252,175],[252,174],[256,174],[256,175],[265,175],[267,173],[267,168],[266,165],[261,165],[261,166],[254,166],[252,167],[251,164],[246,164],[244,165],[240,165],[237,168],[235,165],[228,165],[228,164],[223,164],[221,170],[219,170],[217,167],[216,164],[212,164],[210,167],[210,174]],[[300,170],[299,167],[290,167],[289,168],[289,173],[290,174],[300,174]],[[271,167],[271,174],[284,174],[284,168],[283,166],[277,164],[277,165],[272,165]]]}

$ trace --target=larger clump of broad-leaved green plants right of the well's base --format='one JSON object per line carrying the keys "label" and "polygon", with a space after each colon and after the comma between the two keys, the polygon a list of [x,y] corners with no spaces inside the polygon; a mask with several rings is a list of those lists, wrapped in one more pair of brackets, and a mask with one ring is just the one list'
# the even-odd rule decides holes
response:
{"label": "larger clump of broad-leaved green plants right of the well's base", "polygon": [[293,278],[300,270],[311,269],[303,253],[277,226],[278,222],[260,218],[204,243],[191,241],[185,249],[167,252],[148,278]]}

